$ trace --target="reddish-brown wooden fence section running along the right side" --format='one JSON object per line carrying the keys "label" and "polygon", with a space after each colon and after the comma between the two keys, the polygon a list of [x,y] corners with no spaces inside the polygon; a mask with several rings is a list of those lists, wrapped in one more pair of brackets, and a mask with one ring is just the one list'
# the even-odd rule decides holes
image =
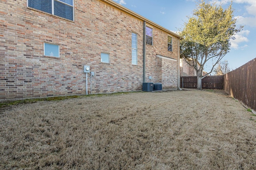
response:
{"label": "reddish-brown wooden fence section running along the right side", "polygon": [[256,111],[256,58],[225,74],[224,90]]}

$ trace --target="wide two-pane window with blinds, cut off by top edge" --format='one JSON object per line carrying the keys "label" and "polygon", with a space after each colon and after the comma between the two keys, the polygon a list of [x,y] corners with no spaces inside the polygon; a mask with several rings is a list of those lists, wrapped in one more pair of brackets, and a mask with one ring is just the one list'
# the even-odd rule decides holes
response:
{"label": "wide two-pane window with blinds, cut off by top edge", "polygon": [[28,6],[68,20],[74,20],[73,0],[28,0]]}

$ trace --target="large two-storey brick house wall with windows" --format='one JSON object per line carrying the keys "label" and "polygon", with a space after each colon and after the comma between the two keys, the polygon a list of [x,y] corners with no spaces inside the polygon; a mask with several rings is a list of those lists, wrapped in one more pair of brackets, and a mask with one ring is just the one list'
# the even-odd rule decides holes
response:
{"label": "large two-storey brick house wall with windows", "polygon": [[0,21],[2,100],[86,94],[84,65],[88,94],[178,88],[182,37],[112,0],[1,0]]}

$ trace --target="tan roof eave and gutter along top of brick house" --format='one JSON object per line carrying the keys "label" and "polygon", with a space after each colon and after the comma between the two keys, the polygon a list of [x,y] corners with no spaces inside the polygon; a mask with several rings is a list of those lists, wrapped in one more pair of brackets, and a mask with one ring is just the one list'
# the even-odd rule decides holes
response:
{"label": "tan roof eave and gutter along top of brick house", "polygon": [[176,36],[176,37],[178,37],[178,38],[180,38],[180,39],[183,39],[183,37],[181,37],[180,35],[178,35],[178,34],[172,32],[172,31],[170,31],[170,30],[168,30],[168,29],[166,29],[166,28],[164,28],[164,27],[162,27],[161,25],[158,25],[157,23],[155,23],[155,22],[153,22],[153,21],[148,20],[147,18],[145,18],[145,17],[143,17],[143,16],[137,14],[136,12],[133,12],[132,10],[129,10],[128,8],[125,8],[124,6],[122,6],[122,5],[120,5],[120,4],[116,3],[116,2],[114,2],[113,0],[100,0],[100,1],[102,1],[102,2],[104,2],[104,3],[106,3],[106,4],[108,4],[108,5],[110,5],[110,6],[114,7],[114,8],[116,8],[116,9],[118,9],[118,10],[120,10],[120,11],[122,11],[122,12],[124,12],[124,13],[126,13],[126,14],[132,16],[132,17],[134,17],[134,18],[137,18],[138,20],[146,21],[146,22],[149,23],[150,25],[152,25],[152,26],[154,26],[154,27],[156,27],[156,28],[158,28],[158,29],[160,29],[160,30],[162,30],[162,31],[165,31],[166,33],[169,33],[169,34],[174,35],[174,36]]}

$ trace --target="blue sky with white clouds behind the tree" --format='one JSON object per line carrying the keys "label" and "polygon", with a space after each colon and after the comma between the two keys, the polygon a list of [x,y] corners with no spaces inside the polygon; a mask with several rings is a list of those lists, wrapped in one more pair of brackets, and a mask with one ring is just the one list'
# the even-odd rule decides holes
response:
{"label": "blue sky with white clouds behind the tree", "polygon": [[[144,16],[145,18],[169,29],[178,31],[192,16],[196,8],[195,0],[114,0],[118,4]],[[231,0],[215,0],[228,8]],[[236,39],[231,41],[230,52],[223,58],[234,70],[256,57],[256,0],[232,0],[234,17],[237,25],[244,25],[237,33]],[[208,71],[212,63],[208,63],[204,70]]]}

